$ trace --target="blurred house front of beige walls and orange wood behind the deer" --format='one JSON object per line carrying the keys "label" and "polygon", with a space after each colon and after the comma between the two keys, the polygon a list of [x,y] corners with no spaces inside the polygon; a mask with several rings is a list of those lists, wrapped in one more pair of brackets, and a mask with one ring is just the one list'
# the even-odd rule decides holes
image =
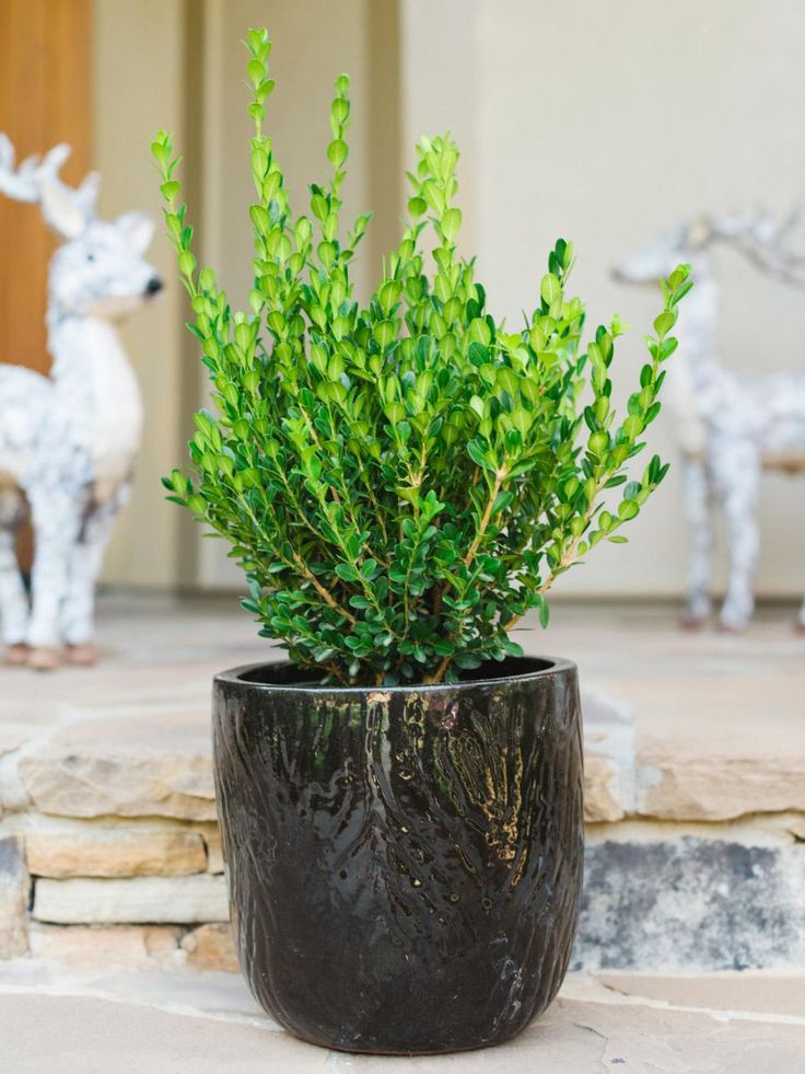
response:
{"label": "blurred house front of beige walls and orange wood behind the deer", "polygon": [[[534,303],[546,255],[573,239],[573,289],[590,323],[617,311],[632,326],[616,394],[643,359],[656,312],[650,289],[614,282],[615,262],[701,212],[760,199],[784,213],[805,192],[805,7],[797,0],[2,0],[0,130],[20,155],[74,147],[66,176],[103,175],[101,213],[159,215],[149,157],[160,127],[175,132],[197,227],[197,254],[235,302],[250,276],[244,54],[268,25],[278,89],[267,127],[295,205],[326,174],[335,76],[352,76],[349,211],[375,212],[360,251],[365,295],[397,240],[404,170],[423,132],[453,132],[462,150],[463,252],[498,314]],[[47,369],[44,310],[50,239],[36,208],[0,201],[3,360]],[[13,256],[10,252],[13,251]],[[241,588],[218,541],[163,500],[161,474],[185,458],[203,399],[185,293],[167,242],[151,257],[170,287],[124,326],[139,376],[145,432],[132,505],[117,526],[105,581],[142,591]],[[719,349],[746,373],[805,368],[805,301],[730,251]],[[676,460],[672,419],[654,444]],[[805,482],[767,474],[761,495],[759,597],[805,589]],[[686,530],[679,467],[633,523],[627,551],[606,545],[559,592],[665,597],[684,591]],[[723,553],[716,580],[725,577]]]}

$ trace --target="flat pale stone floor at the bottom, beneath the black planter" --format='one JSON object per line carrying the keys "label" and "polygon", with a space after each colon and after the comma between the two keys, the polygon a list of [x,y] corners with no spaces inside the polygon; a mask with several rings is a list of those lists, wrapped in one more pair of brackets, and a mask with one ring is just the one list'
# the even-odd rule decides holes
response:
{"label": "flat pale stone floor at the bottom, beneath the black planter", "polygon": [[240,977],[0,962],[3,1074],[803,1074],[805,977],[570,974],[520,1038],[489,1051],[354,1056],[295,1040]]}

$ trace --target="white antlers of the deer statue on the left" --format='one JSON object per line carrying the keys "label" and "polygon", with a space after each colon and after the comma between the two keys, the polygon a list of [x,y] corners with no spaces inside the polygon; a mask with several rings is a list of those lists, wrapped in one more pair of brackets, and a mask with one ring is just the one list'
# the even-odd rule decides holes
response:
{"label": "white antlers of the deer statue on the left", "polygon": [[44,158],[26,158],[14,171],[14,147],[8,135],[0,134],[0,193],[15,201],[38,204],[45,222],[62,239],[74,239],[84,231],[95,215],[101,184],[97,172],[90,172],[77,187],[62,182],[59,171],[70,152],[61,143]]}

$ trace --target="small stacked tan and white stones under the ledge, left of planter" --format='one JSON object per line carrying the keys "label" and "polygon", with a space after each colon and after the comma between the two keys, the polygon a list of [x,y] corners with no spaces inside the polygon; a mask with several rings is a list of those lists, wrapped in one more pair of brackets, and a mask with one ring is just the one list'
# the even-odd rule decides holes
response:
{"label": "small stacked tan and white stones under the ledge, left of planter", "polygon": [[16,821],[0,839],[0,958],[237,968],[214,822]]}

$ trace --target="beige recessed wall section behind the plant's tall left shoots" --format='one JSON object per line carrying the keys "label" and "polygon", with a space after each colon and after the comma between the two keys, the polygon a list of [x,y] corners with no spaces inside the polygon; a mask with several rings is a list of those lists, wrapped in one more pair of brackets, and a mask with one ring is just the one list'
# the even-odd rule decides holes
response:
{"label": "beige recessed wall section behind the plant's tall left shoots", "polygon": [[[206,93],[203,99],[207,137],[203,151],[203,209],[201,253],[225,282],[235,303],[245,304],[252,285],[252,224],[248,205],[254,187],[248,173],[248,139],[254,125],[246,114],[248,91],[244,85],[241,45],[249,26],[268,24],[275,48],[272,77],[277,89],[268,104],[266,129],[285,171],[294,211],[307,210],[307,186],[327,177],[329,103],[332,83],[341,71],[352,79],[352,122],[349,132],[349,174],[343,187],[343,219],[377,207],[374,188],[385,180],[370,163],[370,85],[378,71],[388,73],[396,59],[372,54],[370,33],[377,25],[370,19],[371,0],[334,4],[329,0],[209,0],[205,34]],[[385,3],[387,11],[393,3]],[[387,25],[387,24],[386,24]],[[393,25],[392,25],[393,30]],[[394,41],[390,42],[394,46]],[[396,154],[398,138],[394,111],[396,93],[388,101],[388,123],[372,147],[380,157]],[[393,137],[389,139],[389,130]],[[382,200],[382,198],[381,198]],[[393,216],[394,213],[392,213]],[[357,265],[357,289],[365,295],[372,265],[380,264],[377,231],[388,232],[388,216],[373,221],[372,238],[364,240]],[[220,541],[203,540],[199,548],[199,582],[206,586],[242,585],[241,575],[225,559]]]}

